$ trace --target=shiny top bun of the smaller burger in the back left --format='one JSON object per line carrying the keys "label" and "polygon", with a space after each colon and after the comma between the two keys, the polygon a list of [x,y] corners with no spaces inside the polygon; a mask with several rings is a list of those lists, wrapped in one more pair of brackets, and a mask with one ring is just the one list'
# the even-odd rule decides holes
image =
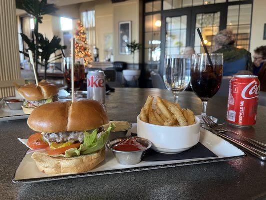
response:
{"label": "shiny top bun of the smaller burger in the back left", "polygon": [[25,84],[23,86],[16,84],[18,93],[26,100],[43,100],[53,98],[58,93],[58,88],[45,80],[39,82],[39,86],[35,84]]}

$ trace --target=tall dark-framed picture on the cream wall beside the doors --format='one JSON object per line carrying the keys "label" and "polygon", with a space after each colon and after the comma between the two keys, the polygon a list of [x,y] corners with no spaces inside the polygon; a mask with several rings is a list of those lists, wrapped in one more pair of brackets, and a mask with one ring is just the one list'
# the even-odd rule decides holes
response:
{"label": "tall dark-framed picture on the cream wall beside the doors", "polygon": [[131,42],[131,21],[119,22],[118,35],[119,54],[129,55],[130,51],[127,48],[127,43]]}

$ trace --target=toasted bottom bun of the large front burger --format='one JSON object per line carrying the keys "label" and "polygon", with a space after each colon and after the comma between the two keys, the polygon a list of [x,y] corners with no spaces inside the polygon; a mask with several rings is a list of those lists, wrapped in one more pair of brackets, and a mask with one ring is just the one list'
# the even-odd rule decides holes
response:
{"label": "toasted bottom bun of the large front burger", "polygon": [[105,159],[105,148],[88,155],[69,158],[51,157],[38,151],[31,157],[39,171],[46,174],[82,173],[90,171]]}

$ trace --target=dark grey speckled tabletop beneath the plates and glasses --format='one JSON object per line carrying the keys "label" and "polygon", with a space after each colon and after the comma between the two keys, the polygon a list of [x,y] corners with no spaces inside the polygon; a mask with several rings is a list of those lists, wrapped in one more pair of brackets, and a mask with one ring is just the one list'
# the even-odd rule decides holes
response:
{"label": "dark grey speckled tabletop beneath the plates and glasses", "polygon": [[[173,101],[160,89],[116,88],[106,97],[110,120],[136,122],[147,95]],[[180,95],[181,107],[196,114],[201,101],[193,92]],[[209,100],[207,113],[224,121],[227,99]],[[240,129],[246,136],[266,142],[266,107],[259,106],[254,128]],[[175,168],[75,178],[34,184],[11,181],[27,148],[17,138],[34,131],[26,120],[0,122],[0,199],[263,199],[266,197],[266,162],[244,158]]]}

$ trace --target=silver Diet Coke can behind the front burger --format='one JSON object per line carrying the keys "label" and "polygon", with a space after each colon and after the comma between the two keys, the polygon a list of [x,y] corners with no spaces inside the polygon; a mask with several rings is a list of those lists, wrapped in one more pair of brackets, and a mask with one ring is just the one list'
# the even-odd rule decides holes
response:
{"label": "silver Diet Coke can behind the front burger", "polygon": [[105,103],[105,74],[101,70],[89,71],[87,74],[87,98]]}

